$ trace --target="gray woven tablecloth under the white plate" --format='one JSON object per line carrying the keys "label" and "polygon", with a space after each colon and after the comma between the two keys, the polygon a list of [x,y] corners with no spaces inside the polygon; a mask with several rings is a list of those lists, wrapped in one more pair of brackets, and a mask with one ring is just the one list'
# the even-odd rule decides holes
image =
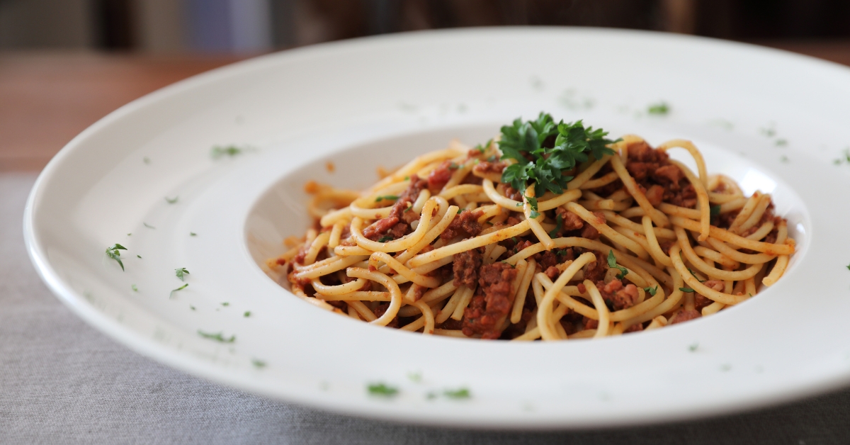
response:
{"label": "gray woven tablecloth under the white plate", "polygon": [[0,443],[850,442],[850,390],[674,425],[529,433],[355,419],[197,379],[88,327],[44,286],[21,233],[35,178],[0,174]]}

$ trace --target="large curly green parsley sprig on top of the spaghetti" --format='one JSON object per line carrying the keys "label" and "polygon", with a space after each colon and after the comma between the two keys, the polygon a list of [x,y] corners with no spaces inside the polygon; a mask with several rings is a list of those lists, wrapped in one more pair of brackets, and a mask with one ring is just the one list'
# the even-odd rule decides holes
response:
{"label": "large curly green parsley sprig on top of the spaghetti", "polygon": [[[544,147],[544,142],[553,135],[557,135],[553,147]],[[561,194],[572,179],[564,176],[565,170],[575,168],[576,162],[587,161],[588,153],[596,159],[614,154],[606,145],[615,141],[605,139],[606,135],[601,128],[585,128],[581,121],[555,124],[552,116],[543,112],[534,121],[517,118],[513,125],[501,128],[502,157],[517,161],[505,168],[501,182],[510,184],[514,190],[525,190],[534,181],[538,197],[546,191]]]}

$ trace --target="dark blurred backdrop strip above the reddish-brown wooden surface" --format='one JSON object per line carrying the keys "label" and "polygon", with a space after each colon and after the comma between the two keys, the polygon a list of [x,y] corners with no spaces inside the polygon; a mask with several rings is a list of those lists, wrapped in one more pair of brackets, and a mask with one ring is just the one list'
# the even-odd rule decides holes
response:
{"label": "dark blurred backdrop strip above the reddish-brown wooden surface", "polygon": [[734,40],[850,36],[847,0],[0,0],[0,49],[262,53],[464,26],[604,26]]}

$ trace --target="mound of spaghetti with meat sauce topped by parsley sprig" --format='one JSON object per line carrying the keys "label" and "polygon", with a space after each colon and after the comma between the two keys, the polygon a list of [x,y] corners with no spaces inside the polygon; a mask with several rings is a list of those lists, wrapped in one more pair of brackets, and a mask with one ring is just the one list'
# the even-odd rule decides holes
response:
{"label": "mound of spaghetti with meat sauce topped by parsley sprig", "polygon": [[[314,227],[269,260],[354,319],[480,339],[598,338],[748,300],[794,253],[770,195],[706,174],[696,147],[555,124],[416,157],[366,191],[309,183]],[[697,171],[667,151],[683,148]]]}

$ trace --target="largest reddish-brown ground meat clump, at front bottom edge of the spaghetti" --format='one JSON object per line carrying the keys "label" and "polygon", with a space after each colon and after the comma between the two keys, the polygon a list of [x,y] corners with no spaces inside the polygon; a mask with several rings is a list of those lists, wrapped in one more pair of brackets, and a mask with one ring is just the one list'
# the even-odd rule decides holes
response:
{"label": "largest reddish-brown ground meat clump, at front bottom edge of the spaghetti", "polygon": [[498,339],[501,335],[501,320],[507,316],[513,304],[511,282],[517,270],[505,263],[483,265],[479,269],[479,287],[463,312],[463,334],[472,337],[480,334],[482,339]]}

